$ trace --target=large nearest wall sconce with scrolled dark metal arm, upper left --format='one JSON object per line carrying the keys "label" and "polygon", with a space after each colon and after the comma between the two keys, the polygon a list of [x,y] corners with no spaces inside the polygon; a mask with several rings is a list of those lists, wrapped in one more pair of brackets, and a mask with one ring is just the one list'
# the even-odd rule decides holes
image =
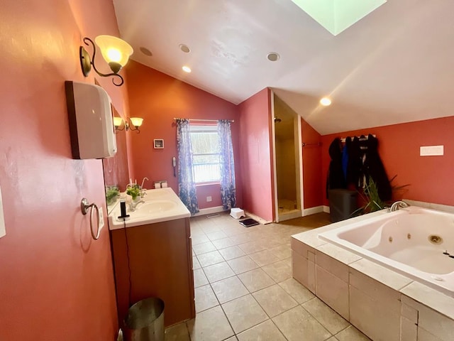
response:
{"label": "large nearest wall sconce with scrolled dark metal arm, upper left", "polygon": [[113,36],[97,36],[96,38],[94,38],[94,41],[96,42],[96,45],[99,46],[99,49],[101,50],[101,55],[111,67],[112,72],[104,74],[96,69],[96,66],[94,66],[96,46],[94,45],[92,39],[85,37],[84,38],[85,45],[89,45],[89,43],[91,43],[93,46],[93,55],[92,58],[90,58],[87,50],[85,50],[83,46],[79,48],[80,66],[82,67],[82,73],[84,74],[85,77],[87,77],[90,70],[92,70],[93,66],[96,73],[101,77],[110,76],[119,77],[121,80],[119,83],[115,82],[116,80],[115,78],[112,79],[112,82],[117,87],[121,86],[124,80],[123,77],[121,77],[121,75],[118,75],[118,72],[120,72],[121,67],[125,66],[126,63],[128,63],[129,56],[133,54],[133,48],[131,48],[131,45],[126,43],[126,41]]}

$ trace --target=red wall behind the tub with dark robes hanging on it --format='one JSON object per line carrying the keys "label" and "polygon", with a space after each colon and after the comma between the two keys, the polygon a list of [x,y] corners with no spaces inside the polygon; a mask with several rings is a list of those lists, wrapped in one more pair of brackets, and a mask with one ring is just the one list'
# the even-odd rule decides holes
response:
{"label": "red wall behind the tub with dark robes hanging on it", "polygon": [[[394,193],[394,200],[404,197],[410,200],[454,205],[453,131],[454,117],[444,117],[322,136],[324,205],[328,205],[324,186],[330,161],[329,145],[336,136],[359,136],[361,134],[377,135],[380,158],[388,178],[397,175],[392,184],[410,184],[406,193]],[[444,146],[444,156],[419,156],[420,146],[438,145]]]}

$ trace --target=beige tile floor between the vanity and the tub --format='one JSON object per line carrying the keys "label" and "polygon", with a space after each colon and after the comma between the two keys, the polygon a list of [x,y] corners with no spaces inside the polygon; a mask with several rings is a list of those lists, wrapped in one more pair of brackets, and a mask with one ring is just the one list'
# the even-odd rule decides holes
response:
{"label": "beige tile floor between the vanity and the tub", "polygon": [[165,340],[369,340],[292,278],[290,236],[325,224],[325,213],[248,228],[191,218],[196,318]]}

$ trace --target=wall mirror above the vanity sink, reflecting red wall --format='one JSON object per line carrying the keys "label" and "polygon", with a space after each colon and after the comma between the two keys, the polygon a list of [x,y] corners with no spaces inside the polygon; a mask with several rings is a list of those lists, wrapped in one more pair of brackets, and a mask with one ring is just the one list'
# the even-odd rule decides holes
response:
{"label": "wall mirror above the vanity sink, reflecting red wall", "polygon": [[[112,106],[114,117],[120,117],[117,110]],[[116,186],[120,192],[126,190],[126,185],[129,183],[128,169],[128,150],[126,147],[126,129],[116,131],[116,148],[117,152],[112,158],[103,158],[102,166],[104,171],[104,185],[106,186],[106,195],[109,195],[109,187]],[[107,213],[109,214],[113,205],[107,205]]]}

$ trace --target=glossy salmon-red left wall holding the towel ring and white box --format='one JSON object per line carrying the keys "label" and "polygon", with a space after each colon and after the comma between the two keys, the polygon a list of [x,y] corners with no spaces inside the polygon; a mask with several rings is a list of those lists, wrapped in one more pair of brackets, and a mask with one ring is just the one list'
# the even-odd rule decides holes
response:
{"label": "glossy salmon-red left wall holding the towel ring and white box", "polygon": [[[1,3],[0,340],[116,337],[107,221],[95,242],[79,208],[87,197],[105,214],[102,163],[72,159],[64,85],[94,83],[79,45],[99,34],[118,36],[110,0]],[[99,82],[123,111],[125,87]]]}

